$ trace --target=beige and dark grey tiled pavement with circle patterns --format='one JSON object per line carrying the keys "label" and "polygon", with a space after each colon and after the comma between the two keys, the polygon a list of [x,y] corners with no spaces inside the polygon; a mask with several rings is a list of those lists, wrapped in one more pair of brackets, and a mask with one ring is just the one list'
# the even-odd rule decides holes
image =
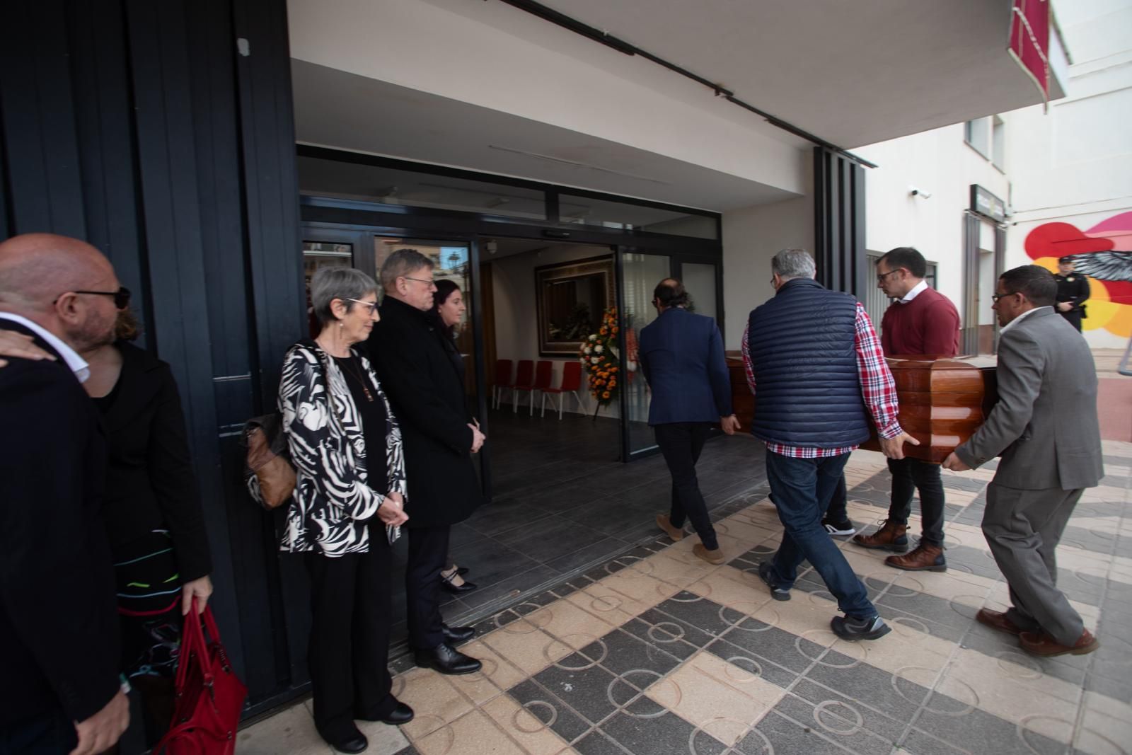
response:
{"label": "beige and dark grey tiled pavement with circle patterns", "polygon": [[[755,570],[781,525],[758,487],[713,512],[723,566],[692,555],[694,535],[657,538],[477,625],[462,650],[479,674],[395,664],[394,693],[417,718],[360,722],[368,752],[1130,755],[1132,444],[1105,441],[1105,454],[1107,477],[1057,552],[1058,584],[1100,640],[1090,655],[1036,659],[974,620],[1007,600],[978,527],[992,470],[944,472],[946,573],[899,572],[842,543],[893,626],[859,644],[830,632],[837,607],[813,572],[789,602],[770,600]],[[850,516],[874,529],[883,458],[856,452],[847,475]],[[308,701],[241,732],[237,752],[332,750]]]}

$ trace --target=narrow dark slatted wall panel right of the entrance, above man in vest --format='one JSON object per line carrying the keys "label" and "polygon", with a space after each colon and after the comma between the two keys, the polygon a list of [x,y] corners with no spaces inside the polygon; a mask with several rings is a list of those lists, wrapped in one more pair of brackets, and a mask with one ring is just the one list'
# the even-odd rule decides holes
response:
{"label": "narrow dark slatted wall panel right of the entrance, above man in vest", "polygon": [[817,280],[863,299],[873,284],[865,254],[865,169],[814,147],[814,259]]}

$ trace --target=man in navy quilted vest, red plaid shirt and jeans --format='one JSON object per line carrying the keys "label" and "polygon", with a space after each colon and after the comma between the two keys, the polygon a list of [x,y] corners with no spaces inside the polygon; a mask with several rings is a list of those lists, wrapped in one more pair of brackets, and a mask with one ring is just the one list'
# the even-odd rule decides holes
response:
{"label": "man in navy quilted vest, red plaid shirt and jeans", "polygon": [[[895,384],[865,308],[851,294],[814,281],[814,259],[783,249],[771,263],[775,295],[751,312],[743,362],[755,394],[752,434],[766,443],[771,499],[782,544],[758,567],[775,600],[789,600],[798,566],[808,560],[837,598],[843,640],[890,632],[865,585],[822,526],[849,453],[869,436],[869,419],[890,458],[919,445],[897,420]],[[762,388],[756,391],[756,384]]]}

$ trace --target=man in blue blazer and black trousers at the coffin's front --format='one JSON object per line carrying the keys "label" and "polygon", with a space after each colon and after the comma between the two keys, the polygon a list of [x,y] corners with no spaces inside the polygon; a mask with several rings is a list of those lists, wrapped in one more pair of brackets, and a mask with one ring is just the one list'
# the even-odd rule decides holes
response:
{"label": "man in blue blazer and black trousers at the coffin's front", "polygon": [[657,524],[672,540],[684,538],[684,521],[700,535],[692,551],[710,564],[722,564],[723,554],[700,492],[696,462],[711,426],[719,422],[735,435],[739,420],[731,412],[731,379],[723,359],[723,338],[715,320],[687,309],[688,294],[676,278],[664,278],[653,290],[659,316],[641,331],[637,360],[649,386],[649,424],[672,475],[672,506],[658,514]]}

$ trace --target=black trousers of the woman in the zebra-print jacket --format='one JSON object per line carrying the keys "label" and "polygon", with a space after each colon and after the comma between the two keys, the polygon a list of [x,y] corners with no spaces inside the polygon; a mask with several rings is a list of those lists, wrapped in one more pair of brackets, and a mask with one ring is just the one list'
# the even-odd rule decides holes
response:
{"label": "black trousers of the woman in the zebra-print jacket", "polygon": [[384,718],[397,704],[389,693],[389,552],[378,522],[365,554],[305,554],[315,727],[329,741],[353,736],[355,718]]}

